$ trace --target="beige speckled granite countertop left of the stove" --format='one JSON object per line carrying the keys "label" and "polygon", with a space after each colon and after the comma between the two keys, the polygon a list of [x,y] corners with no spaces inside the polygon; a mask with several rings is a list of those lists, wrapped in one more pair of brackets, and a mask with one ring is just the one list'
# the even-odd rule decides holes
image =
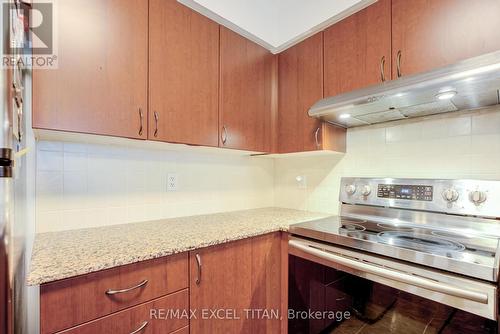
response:
{"label": "beige speckled granite countertop left of the stove", "polygon": [[328,214],[263,208],[37,234],[29,285],[244,239]]}

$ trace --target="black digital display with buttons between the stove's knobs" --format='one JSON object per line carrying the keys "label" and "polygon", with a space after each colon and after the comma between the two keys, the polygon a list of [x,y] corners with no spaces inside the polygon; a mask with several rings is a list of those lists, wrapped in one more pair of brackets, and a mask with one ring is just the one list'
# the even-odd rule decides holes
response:
{"label": "black digital display with buttons between the stove's knobs", "polygon": [[433,198],[433,186],[413,184],[379,184],[377,197],[430,202]]}

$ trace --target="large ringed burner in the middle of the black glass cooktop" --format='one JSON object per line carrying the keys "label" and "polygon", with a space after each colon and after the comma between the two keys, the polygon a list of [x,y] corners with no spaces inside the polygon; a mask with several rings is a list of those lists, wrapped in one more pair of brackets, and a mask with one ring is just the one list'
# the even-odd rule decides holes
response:
{"label": "large ringed burner in the middle of the black glass cooktop", "polygon": [[465,249],[461,243],[414,232],[388,231],[377,236],[383,243],[425,252],[461,252]]}

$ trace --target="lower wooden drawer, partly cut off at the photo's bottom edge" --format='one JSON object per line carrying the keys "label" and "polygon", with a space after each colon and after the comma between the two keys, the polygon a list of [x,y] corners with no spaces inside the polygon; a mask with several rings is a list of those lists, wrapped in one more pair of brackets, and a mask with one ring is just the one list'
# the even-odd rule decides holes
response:
{"label": "lower wooden drawer, partly cut off at the photo's bottom edge", "polygon": [[134,332],[140,334],[181,334],[189,332],[185,330],[185,328],[189,328],[186,327],[189,325],[187,317],[152,319],[151,310],[179,310],[181,314],[183,311],[185,314],[189,314],[188,289],[68,329],[61,334],[127,334]]}

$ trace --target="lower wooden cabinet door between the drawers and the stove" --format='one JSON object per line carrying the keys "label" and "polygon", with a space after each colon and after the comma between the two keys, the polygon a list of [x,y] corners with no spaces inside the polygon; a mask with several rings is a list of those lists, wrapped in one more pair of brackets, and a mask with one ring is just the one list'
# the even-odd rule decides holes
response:
{"label": "lower wooden cabinet door between the drawers and the stove", "polygon": [[191,252],[192,334],[280,331],[279,319],[245,311],[280,310],[280,242],[273,233]]}

